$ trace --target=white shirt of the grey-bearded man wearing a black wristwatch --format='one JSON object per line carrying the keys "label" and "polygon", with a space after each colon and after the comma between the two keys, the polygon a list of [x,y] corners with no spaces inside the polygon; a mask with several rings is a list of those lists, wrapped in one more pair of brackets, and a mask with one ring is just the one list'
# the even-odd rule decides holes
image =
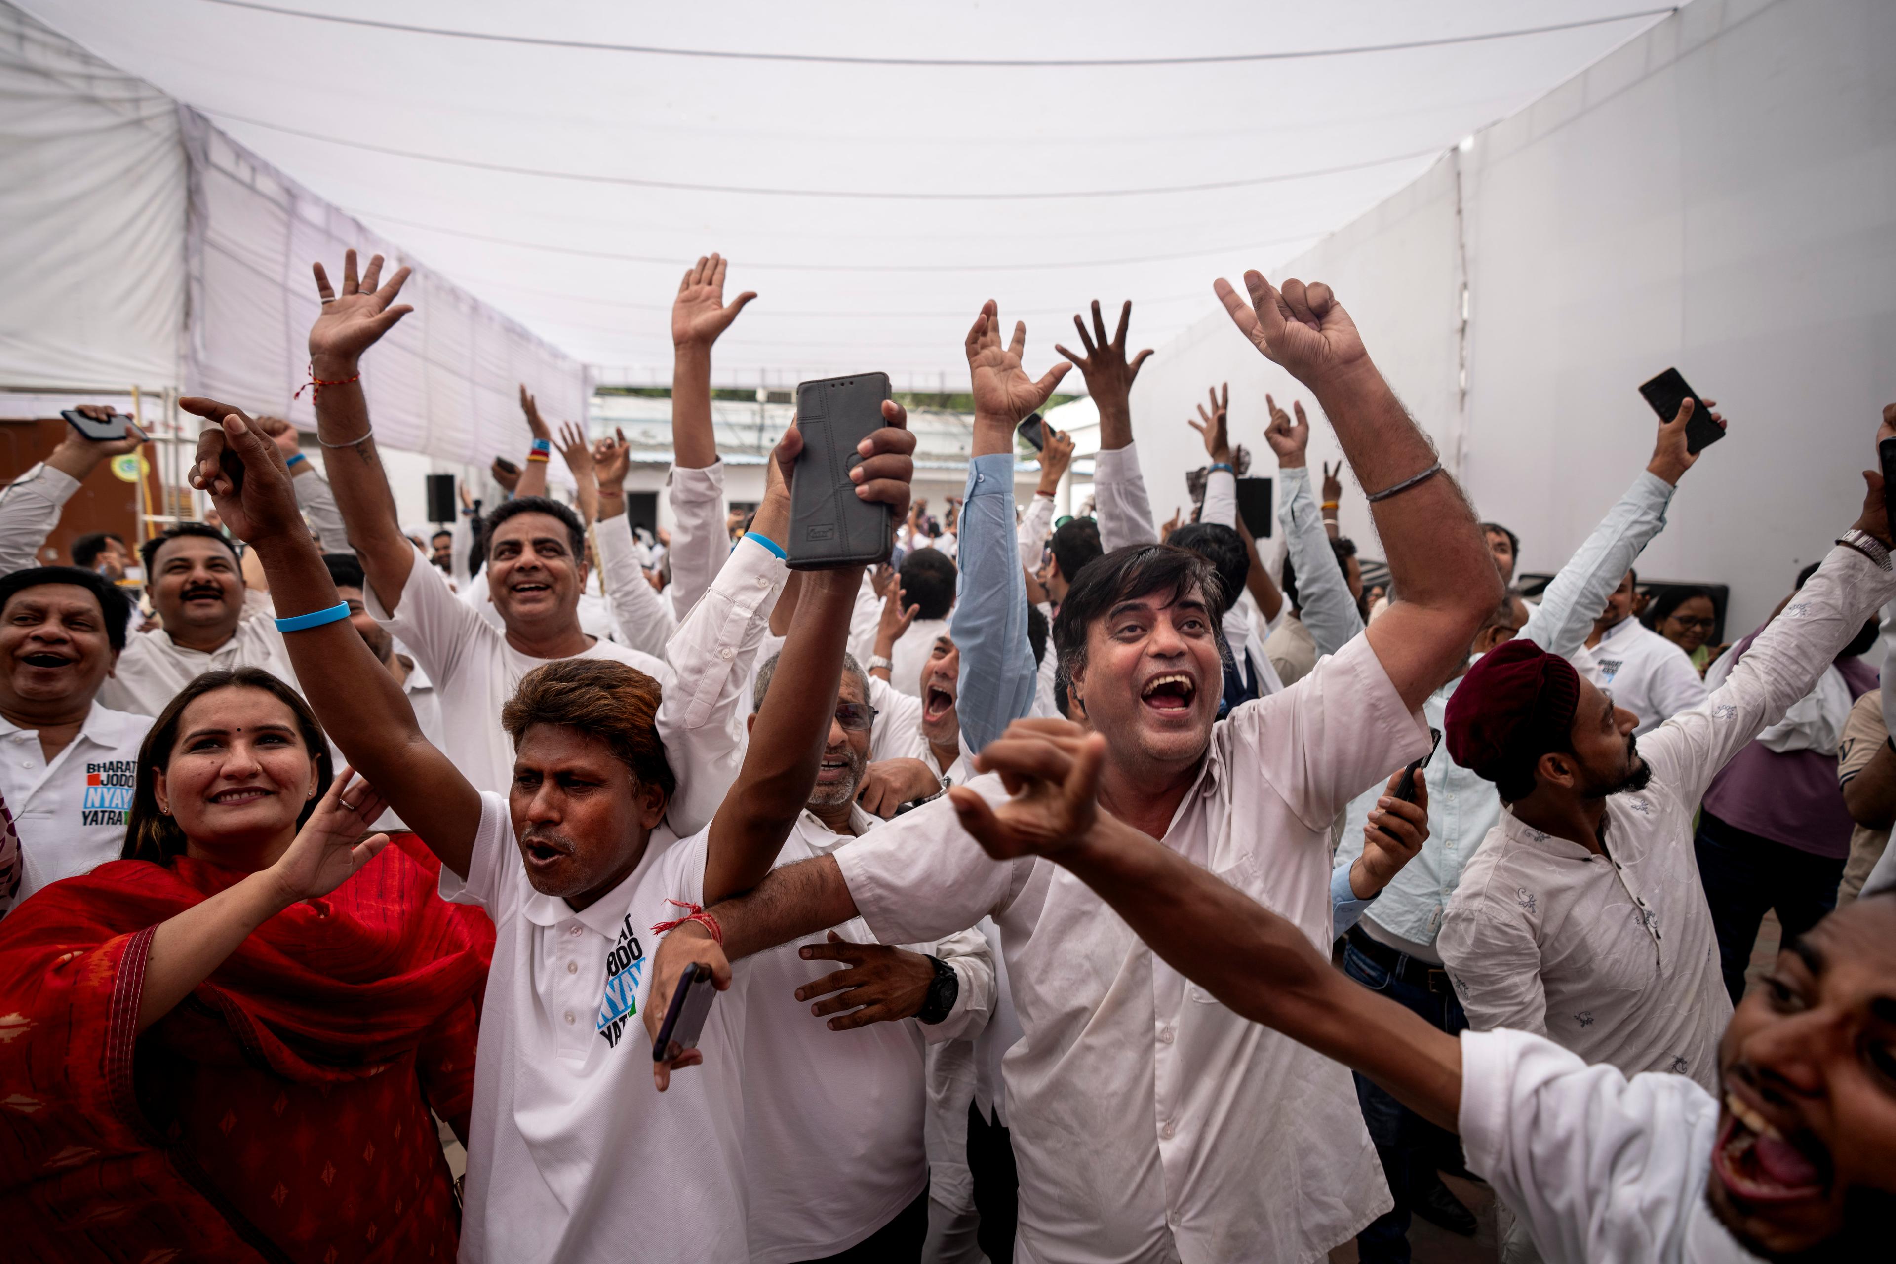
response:
{"label": "white shirt of the grey-bearded man wearing a black wristwatch", "polygon": [[[857,832],[882,824],[849,809]],[[804,811],[777,864],[836,855],[857,840]],[[851,944],[874,944],[868,925],[836,927]],[[939,957],[959,984],[940,1023],[914,1018],[830,1031],[796,989],[830,970],[796,955],[825,932],[749,959],[743,1038],[743,1156],[751,1203],[751,1264],[819,1260],[848,1251],[912,1203],[929,1181],[923,1150],[923,1048],[973,1035],[994,1006],[994,957],[978,930],[901,944]]]}

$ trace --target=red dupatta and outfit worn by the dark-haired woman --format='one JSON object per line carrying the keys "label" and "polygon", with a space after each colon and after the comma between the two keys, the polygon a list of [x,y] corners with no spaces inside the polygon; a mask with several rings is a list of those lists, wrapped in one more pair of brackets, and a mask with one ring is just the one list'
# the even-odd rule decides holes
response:
{"label": "red dupatta and outfit worn by the dark-haired woman", "polygon": [[493,927],[446,904],[436,874],[398,836],[328,896],[264,923],[142,1037],[152,932],[245,874],[118,860],[0,921],[8,1253],[451,1256],[427,1109],[465,1133]]}

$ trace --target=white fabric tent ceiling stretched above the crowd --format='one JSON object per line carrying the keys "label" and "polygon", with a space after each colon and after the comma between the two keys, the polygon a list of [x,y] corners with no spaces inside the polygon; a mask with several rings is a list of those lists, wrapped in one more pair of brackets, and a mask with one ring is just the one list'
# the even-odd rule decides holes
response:
{"label": "white fabric tent ceiling stretched above the crowd", "polygon": [[965,388],[988,298],[1035,364],[1094,296],[1170,337],[1217,273],[1289,258],[1668,11],[25,6],[601,379],[669,381],[679,273],[720,250],[760,294],[720,383],[876,368],[918,390]]}

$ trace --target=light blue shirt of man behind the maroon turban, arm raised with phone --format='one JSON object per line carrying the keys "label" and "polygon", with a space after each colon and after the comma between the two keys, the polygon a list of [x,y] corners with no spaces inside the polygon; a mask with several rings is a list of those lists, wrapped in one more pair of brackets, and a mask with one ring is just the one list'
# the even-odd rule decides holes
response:
{"label": "light blue shirt of man behind the maroon turban, arm raised with phone", "polygon": [[[1640,550],[1665,527],[1665,510],[1670,500],[1672,485],[1655,474],[1642,472],[1627,495],[1606,514],[1606,519],[1593,529],[1579,551],[1560,569],[1560,574],[1553,578],[1540,606],[1530,612],[1517,637],[1534,641],[1549,654],[1572,658],[1587,642],[1595,618],[1612,591],[1619,587],[1619,580],[1638,559]],[[1301,569],[1297,584],[1301,589]],[[1422,714],[1430,726],[1447,728],[1449,697],[1454,695],[1460,682],[1460,677],[1449,680],[1422,703]],[[1488,830],[1502,821],[1502,800],[1494,792],[1492,781],[1483,781],[1449,758],[1447,743],[1424,769],[1424,785],[1428,785],[1428,841],[1373,900],[1358,900],[1352,894],[1350,866],[1363,855],[1363,826],[1376,807],[1376,800],[1382,798],[1384,786],[1371,786],[1344,809],[1342,843],[1337,847],[1337,868],[1329,887],[1337,934],[1356,925],[1356,919],[1367,910],[1378,927],[1397,938],[1411,944],[1435,942],[1441,912],[1447,908],[1449,896],[1454,894],[1456,883],[1462,881],[1462,868],[1481,847]],[[1375,908],[1371,910],[1371,906]]]}

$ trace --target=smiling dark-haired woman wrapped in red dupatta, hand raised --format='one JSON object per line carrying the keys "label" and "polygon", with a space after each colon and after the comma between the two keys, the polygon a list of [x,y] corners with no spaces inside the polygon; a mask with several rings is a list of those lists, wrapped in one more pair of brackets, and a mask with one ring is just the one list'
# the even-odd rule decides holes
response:
{"label": "smiling dark-haired woman wrapped in red dupatta, hand raised", "polygon": [[455,1256],[493,929],[381,811],[269,673],[165,709],[129,858],[0,921],[0,1255]]}

